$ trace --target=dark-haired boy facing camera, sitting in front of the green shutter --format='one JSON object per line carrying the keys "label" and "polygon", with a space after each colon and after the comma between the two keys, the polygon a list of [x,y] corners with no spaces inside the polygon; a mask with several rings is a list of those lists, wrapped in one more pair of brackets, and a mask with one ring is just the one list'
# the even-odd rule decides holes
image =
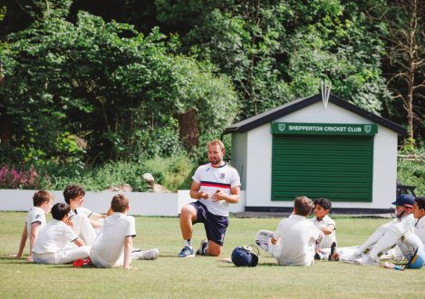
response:
{"label": "dark-haired boy facing camera, sitting in front of the green shutter", "polygon": [[314,259],[321,260],[327,258],[330,261],[334,261],[339,258],[336,252],[335,221],[328,216],[331,207],[332,203],[328,198],[314,199],[315,217],[309,220],[314,224],[314,227],[317,227],[317,229],[320,229],[324,233],[324,237],[315,248]]}

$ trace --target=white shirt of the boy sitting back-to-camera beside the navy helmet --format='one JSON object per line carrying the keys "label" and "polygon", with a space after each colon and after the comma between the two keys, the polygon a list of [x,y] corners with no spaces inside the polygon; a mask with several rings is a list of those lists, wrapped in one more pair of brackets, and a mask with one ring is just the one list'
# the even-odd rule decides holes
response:
{"label": "white shirt of the boy sitting back-to-camera beside the navy helmet", "polygon": [[279,265],[312,265],[314,244],[320,236],[314,224],[303,216],[283,219],[275,233],[277,240],[273,256]]}

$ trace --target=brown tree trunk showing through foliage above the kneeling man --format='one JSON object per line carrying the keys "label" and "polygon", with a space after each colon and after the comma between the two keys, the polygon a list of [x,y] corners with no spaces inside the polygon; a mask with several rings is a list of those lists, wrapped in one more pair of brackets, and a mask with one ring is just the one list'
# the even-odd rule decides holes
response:
{"label": "brown tree trunk showing through foliage above the kneeling man", "polygon": [[194,109],[177,115],[179,121],[180,140],[190,150],[198,146],[199,129],[198,129],[198,112]]}

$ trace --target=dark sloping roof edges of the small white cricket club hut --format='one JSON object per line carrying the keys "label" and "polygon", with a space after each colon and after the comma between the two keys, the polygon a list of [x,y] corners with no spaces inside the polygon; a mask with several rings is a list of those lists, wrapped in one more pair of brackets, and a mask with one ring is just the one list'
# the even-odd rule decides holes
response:
{"label": "dark sloping roof edges of the small white cricket club hut", "polygon": [[[307,106],[313,105],[318,101],[322,101],[322,94],[316,94],[307,98],[290,101],[282,106],[250,117],[249,119],[246,119],[244,121],[239,121],[237,123],[232,124],[224,131],[224,134],[234,132],[243,133],[248,130],[256,129],[257,127],[262,126],[268,122],[275,121],[285,115],[291,114],[292,112],[299,111]],[[398,125],[397,123],[384,119],[381,116],[373,114],[372,112],[365,111],[362,108],[359,108],[336,95],[331,94],[329,96],[329,102],[332,102],[334,105],[339,106],[345,110],[352,111],[353,113],[356,113],[365,119],[373,121],[374,123],[377,123],[382,127],[393,130],[397,132],[397,134],[399,134],[400,136],[405,136],[407,134],[407,130]]]}

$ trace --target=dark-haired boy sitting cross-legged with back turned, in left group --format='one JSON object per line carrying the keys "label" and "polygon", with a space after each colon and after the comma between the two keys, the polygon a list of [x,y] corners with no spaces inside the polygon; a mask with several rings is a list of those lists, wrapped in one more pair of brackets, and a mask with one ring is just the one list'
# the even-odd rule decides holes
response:
{"label": "dark-haired boy sitting cross-legged with back turned, in left group", "polygon": [[[91,246],[73,232],[69,223],[71,208],[66,203],[57,203],[52,207],[53,219],[40,232],[33,249],[34,262],[38,264],[68,264],[89,256]],[[71,248],[70,242],[77,247]]]}

